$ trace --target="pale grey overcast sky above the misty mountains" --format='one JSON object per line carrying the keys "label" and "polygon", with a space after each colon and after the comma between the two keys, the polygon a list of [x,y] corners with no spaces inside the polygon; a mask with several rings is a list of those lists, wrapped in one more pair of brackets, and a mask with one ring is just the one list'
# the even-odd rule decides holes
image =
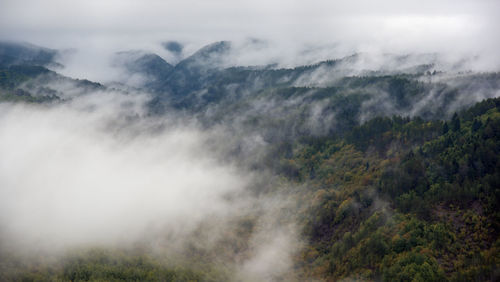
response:
{"label": "pale grey overcast sky above the misty mountains", "polygon": [[[0,0],[0,38],[54,48],[154,48],[262,38],[356,51],[481,55],[499,65],[497,0]],[[193,47],[195,49],[195,47]]]}

